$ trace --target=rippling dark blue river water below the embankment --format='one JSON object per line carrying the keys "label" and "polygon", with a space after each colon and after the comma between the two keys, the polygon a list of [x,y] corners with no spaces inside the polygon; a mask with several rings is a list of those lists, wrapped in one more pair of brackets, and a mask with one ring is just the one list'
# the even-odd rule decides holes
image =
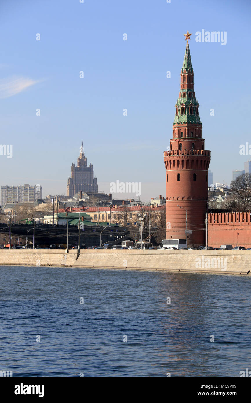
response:
{"label": "rippling dark blue river water below the embankment", "polygon": [[0,370],[13,376],[251,370],[251,275],[0,266],[0,279]]}

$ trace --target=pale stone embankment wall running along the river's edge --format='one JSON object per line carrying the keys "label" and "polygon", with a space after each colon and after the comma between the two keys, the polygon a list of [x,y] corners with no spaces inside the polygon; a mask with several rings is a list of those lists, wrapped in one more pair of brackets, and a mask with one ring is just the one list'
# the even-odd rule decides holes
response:
{"label": "pale stone embankment wall running along the river's edge", "polygon": [[0,265],[247,274],[251,251],[1,249]]}

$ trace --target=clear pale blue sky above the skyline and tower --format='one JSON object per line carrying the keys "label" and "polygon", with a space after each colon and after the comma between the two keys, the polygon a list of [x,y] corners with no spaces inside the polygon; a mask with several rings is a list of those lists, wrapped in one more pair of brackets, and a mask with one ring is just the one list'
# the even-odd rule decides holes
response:
{"label": "clear pale blue sky above the skyline and tower", "polygon": [[[1,143],[13,145],[1,185],[66,194],[83,138],[99,191],[119,180],[141,182],[143,200],[165,196],[187,30],[210,169],[230,183],[251,159],[239,154],[251,145],[250,16],[247,0],[1,0]],[[195,42],[202,29],[226,31],[226,45]]]}

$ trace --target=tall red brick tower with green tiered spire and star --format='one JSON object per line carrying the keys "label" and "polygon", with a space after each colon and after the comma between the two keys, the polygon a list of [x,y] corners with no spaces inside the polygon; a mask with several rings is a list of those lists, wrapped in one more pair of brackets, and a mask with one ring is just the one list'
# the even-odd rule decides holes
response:
{"label": "tall red brick tower with green tiered spire and star", "polygon": [[210,151],[205,150],[205,139],[201,137],[202,125],[193,89],[194,73],[188,44],[190,35],[187,31],[170,151],[164,151],[166,239],[185,239],[187,215],[187,230],[192,230],[187,235],[187,243],[201,245],[205,244]]}

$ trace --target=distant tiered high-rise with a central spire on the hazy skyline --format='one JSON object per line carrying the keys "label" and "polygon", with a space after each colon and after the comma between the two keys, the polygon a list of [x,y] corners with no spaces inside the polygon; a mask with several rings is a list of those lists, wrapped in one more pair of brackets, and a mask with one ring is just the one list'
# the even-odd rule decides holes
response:
{"label": "distant tiered high-rise with a central spire on the hazy skyline", "polygon": [[80,155],[77,160],[77,166],[73,162],[71,166],[71,178],[67,180],[67,196],[73,197],[80,191],[97,193],[97,178],[93,177],[93,164],[87,166],[87,158],[85,158],[83,150],[83,141],[81,145]]}

